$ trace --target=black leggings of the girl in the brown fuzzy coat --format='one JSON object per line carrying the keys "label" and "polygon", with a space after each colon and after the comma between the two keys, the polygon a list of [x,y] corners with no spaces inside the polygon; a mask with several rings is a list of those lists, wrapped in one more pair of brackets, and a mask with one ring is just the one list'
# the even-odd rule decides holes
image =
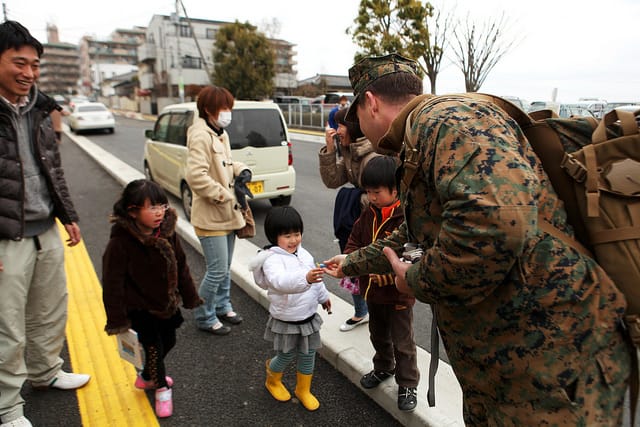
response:
{"label": "black leggings of the girl in the brown fuzzy coat", "polygon": [[178,310],[169,319],[161,319],[148,311],[133,311],[129,318],[144,348],[142,378],[153,381],[158,388],[167,387],[164,358],[176,345],[176,329],[184,321],[182,314]]}

